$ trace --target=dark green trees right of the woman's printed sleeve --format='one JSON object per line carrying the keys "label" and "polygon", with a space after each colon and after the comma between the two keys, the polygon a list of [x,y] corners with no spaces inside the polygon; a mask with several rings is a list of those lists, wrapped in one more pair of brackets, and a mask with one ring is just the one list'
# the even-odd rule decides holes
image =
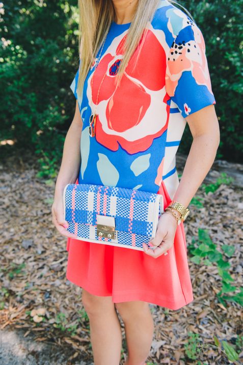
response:
{"label": "dark green trees right of the woman's printed sleeve", "polygon": [[[188,0],[180,2],[193,15],[204,36],[215,110],[220,124],[216,158],[242,161],[243,110],[242,32],[243,0]],[[192,135],[188,124],[179,150],[188,153]]]}

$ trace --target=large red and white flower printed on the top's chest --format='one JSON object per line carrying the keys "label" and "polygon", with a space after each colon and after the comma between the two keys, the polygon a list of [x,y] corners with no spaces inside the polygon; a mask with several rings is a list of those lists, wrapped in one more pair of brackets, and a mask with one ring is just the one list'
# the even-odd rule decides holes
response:
{"label": "large red and white flower printed on the top's chest", "polygon": [[[114,47],[119,37],[120,42]],[[118,150],[120,145],[134,154],[147,150],[153,139],[167,129],[169,106],[166,102],[169,96],[165,92],[166,53],[155,35],[148,30],[142,48],[141,39],[120,86],[116,87],[114,77],[124,54],[124,37],[119,37],[113,40],[110,52],[101,58],[93,79],[92,96],[93,103],[96,103],[104,77],[98,98],[96,139],[112,151]],[[133,70],[139,50],[137,67]]]}

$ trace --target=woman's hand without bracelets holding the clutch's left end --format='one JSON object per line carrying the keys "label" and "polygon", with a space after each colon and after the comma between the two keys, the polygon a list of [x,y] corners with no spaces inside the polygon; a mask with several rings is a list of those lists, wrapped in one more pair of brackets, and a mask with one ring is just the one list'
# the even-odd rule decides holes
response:
{"label": "woman's hand without bracelets holding the clutch's left end", "polygon": [[77,238],[77,235],[66,231],[68,228],[68,222],[64,219],[64,210],[63,210],[63,196],[55,195],[54,202],[51,207],[52,213],[52,223],[57,228],[58,232],[65,237]]}

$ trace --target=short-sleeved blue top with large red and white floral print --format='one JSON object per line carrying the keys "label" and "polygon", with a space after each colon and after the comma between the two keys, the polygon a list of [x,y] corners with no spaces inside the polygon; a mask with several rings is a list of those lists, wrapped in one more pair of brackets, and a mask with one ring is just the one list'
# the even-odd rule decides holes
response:
{"label": "short-sleeved blue top with large red and white floral print", "polygon": [[[157,192],[163,180],[173,199],[179,184],[175,157],[185,118],[215,104],[205,42],[185,12],[160,0],[147,23],[137,67],[133,69],[140,44],[116,87],[122,42],[130,24],[111,24],[103,50],[98,51],[98,66],[95,70],[94,63],[89,70],[82,95],[77,95],[79,69],[70,86],[83,120],[78,183]],[[89,119],[103,77],[95,137],[91,137]]]}

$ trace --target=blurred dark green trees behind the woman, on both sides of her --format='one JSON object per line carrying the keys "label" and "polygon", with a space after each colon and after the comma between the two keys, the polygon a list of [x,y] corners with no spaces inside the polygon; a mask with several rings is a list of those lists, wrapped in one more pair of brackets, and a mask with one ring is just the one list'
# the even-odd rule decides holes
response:
{"label": "blurred dark green trees behind the woman, on both sides of her", "polygon": [[[178,2],[191,12],[206,43],[221,128],[216,158],[241,162],[243,0]],[[43,177],[56,176],[74,115],[69,87],[78,67],[77,29],[77,0],[0,2],[0,141],[37,154]],[[178,152],[187,154],[191,143],[186,125]]]}

